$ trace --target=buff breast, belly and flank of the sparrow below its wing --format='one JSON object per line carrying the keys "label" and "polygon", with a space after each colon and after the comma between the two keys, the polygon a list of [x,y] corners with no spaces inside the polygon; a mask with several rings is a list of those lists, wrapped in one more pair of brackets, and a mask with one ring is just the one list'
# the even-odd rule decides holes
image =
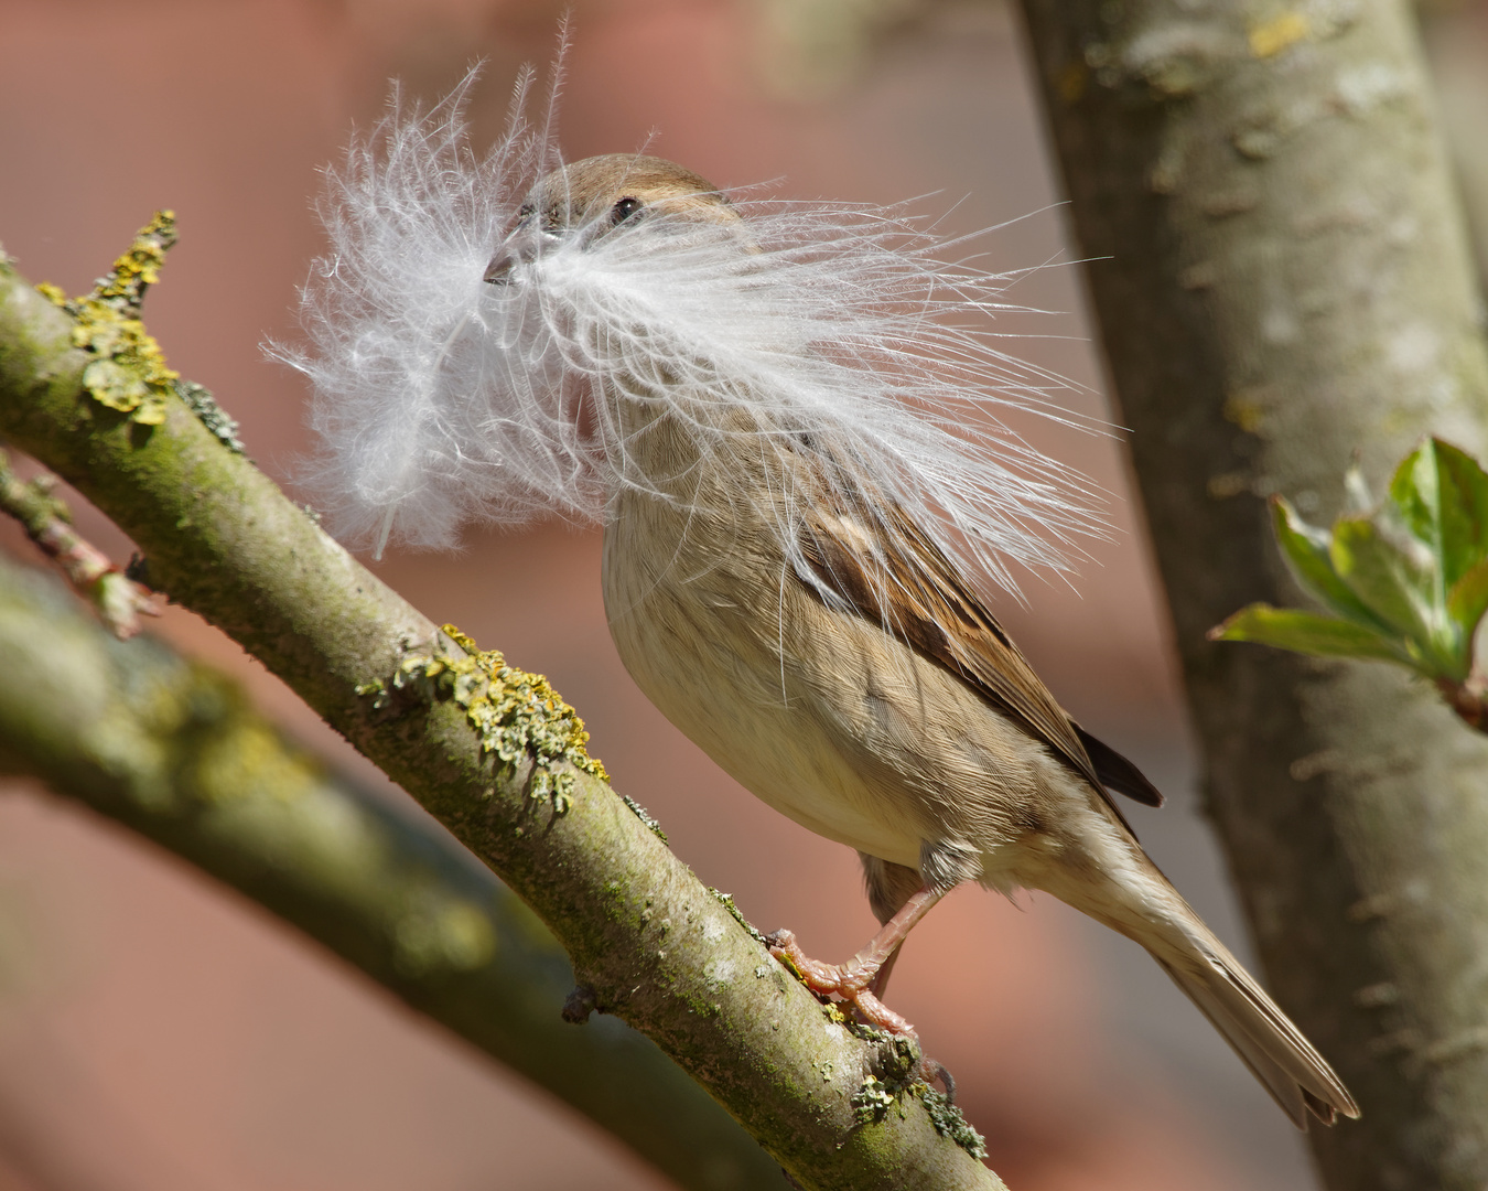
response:
{"label": "buff breast, belly and flank of the sparrow below its wing", "polygon": [[604,536],[616,649],[647,698],[802,826],[917,868],[955,841],[1000,865],[1043,750],[964,682],[789,570],[774,527],[622,493]]}

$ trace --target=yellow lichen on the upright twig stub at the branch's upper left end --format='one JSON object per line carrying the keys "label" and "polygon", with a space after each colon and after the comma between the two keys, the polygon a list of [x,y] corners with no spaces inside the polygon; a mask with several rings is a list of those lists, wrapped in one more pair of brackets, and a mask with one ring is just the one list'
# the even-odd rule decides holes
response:
{"label": "yellow lichen on the upright twig stub at the branch's upper left end", "polygon": [[73,317],[73,345],[92,353],[83,387],[100,405],[128,414],[141,426],[165,421],[179,374],[167,366],[161,345],[140,322],[144,290],[159,280],[165,252],[176,243],[176,214],[156,211],[129,250],[98,278],[92,293],[67,298],[57,286],[37,290]]}

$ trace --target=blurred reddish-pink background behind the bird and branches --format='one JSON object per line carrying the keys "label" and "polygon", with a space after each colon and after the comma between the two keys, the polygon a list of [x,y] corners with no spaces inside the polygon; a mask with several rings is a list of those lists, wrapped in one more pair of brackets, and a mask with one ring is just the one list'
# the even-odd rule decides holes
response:
{"label": "blurred reddish-pink background behind the bird and branches", "polygon": [[[321,249],[318,171],[378,118],[390,79],[433,100],[476,60],[470,115],[488,143],[516,68],[551,60],[562,7],[568,159],[644,146],[720,186],[924,195],[917,208],[946,234],[1003,225],[979,241],[985,265],[1048,265],[1009,298],[1054,311],[1009,320],[1040,336],[1015,350],[1080,386],[1073,411],[1112,417],[1019,30],[998,3],[0,0],[0,243],[31,280],[80,293],[153,210],[174,208],[182,240],[149,326],[286,481],[307,450],[305,392],[260,344],[298,335],[296,284]],[[1110,493],[1116,531],[1073,588],[1034,579],[1025,606],[997,612],[1071,713],[1168,792],[1161,811],[1126,810],[1247,954],[1193,789],[1120,435],[1019,429]],[[0,545],[33,557],[12,526]],[[592,530],[540,526],[375,570],[436,622],[546,673],[616,788],[751,922],[847,957],[873,927],[857,859],[757,804],[635,691],[604,627],[598,546]],[[418,813],[216,630],[170,609],[153,631],[229,668],[292,732]],[[958,892],[915,930],[891,1003],[952,1069],[1016,1191],[1309,1185],[1298,1134],[1156,966],[1052,899]],[[39,788],[3,788],[0,1191],[409,1185],[664,1184],[183,863]]]}

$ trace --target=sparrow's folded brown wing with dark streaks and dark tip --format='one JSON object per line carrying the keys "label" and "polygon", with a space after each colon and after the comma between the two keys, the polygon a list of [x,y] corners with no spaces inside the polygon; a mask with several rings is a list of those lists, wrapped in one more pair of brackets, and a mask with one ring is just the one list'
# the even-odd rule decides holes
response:
{"label": "sparrow's folded brown wing with dark streaks and dark tip", "polygon": [[801,545],[815,579],[976,688],[1101,791],[1122,822],[1110,791],[1161,807],[1162,794],[1135,765],[1065,715],[955,564],[900,509],[876,517],[865,526],[847,509],[808,515]]}

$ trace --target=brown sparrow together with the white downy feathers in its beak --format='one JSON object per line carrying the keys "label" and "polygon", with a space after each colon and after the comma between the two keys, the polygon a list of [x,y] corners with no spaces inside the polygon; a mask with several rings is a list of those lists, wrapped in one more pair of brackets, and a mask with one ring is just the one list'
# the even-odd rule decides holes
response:
{"label": "brown sparrow together with the white downy feathers in its beak", "polygon": [[[442,545],[491,493],[506,511],[546,499],[598,517],[606,615],[641,691],[743,786],[863,859],[882,929],[853,960],[775,936],[818,993],[912,1033],[879,994],[915,922],[969,881],[1046,890],[1147,948],[1299,1127],[1357,1117],[1141,850],[1115,796],[1158,805],[1158,791],[1065,715],[979,597],[978,578],[1006,585],[1003,558],[1056,554],[1028,526],[1080,526],[1027,454],[1003,466],[976,430],[946,433],[957,386],[1004,357],[897,313],[900,290],[870,320],[890,348],[859,335],[847,283],[923,272],[923,258],[885,255],[878,216],[829,220],[845,231],[820,252],[777,252],[768,217],[638,155],[551,168],[512,211],[461,180],[461,137],[455,122],[393,128],[385,167],[354,149],[333,179],[336,253],[307,287],[323,356],[286,353],[315,381],[354,533],[385,540],[402,518],[409,540]],[[449,179],[478,226],[451,220],[452,247],[426,268],[405,241]],[[818,268],[833,252],[844,268]],[[924,275],[988,311],[976,278]],[[430,295],[417,317],[393,305],[405,284]]]}

